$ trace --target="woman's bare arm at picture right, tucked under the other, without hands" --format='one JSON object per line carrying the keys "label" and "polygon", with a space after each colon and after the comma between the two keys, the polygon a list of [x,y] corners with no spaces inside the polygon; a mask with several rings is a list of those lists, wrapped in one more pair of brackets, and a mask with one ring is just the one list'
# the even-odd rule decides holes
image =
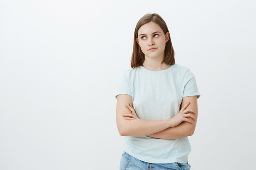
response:
{"label": "woman's bare arm at picture right, tucked under the other, without hands", "polygon": [[159,138],[159,139],[177,139],[177,138],[193,135],[195,131],[197,117],[198,117],[197,96],[183,97],[180,108],[182,108],[186,104],[186,102],[189,102],[189,101],[190,101],[190,105],[187,108],[192,109],[196,112],[196,114],[194,115],[195,120],[188,117],[188,119],[190,119],[193,124],[187,121],[183,121],[178,126],[166,128],[165,130],[162,130],[160,132],[156,132],[147,136],[153,137],[153,138]]}

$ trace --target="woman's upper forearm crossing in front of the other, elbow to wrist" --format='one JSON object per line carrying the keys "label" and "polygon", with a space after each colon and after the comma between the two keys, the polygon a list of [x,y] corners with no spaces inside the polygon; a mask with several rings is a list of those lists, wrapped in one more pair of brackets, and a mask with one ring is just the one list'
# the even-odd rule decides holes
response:
{"label": "woman's upper forearm crossing in front of the other, elbow to wrist", "polygon": [[155,134],[171,127],[170,119],[167,120],[144,120],[144,119],[134,119],[125,121],[122,126],[122,136],[146,136],[150,134]]}

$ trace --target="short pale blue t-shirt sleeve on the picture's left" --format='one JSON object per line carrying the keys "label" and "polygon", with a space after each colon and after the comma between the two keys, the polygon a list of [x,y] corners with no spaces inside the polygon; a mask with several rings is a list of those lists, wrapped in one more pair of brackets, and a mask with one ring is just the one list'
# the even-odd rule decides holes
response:
{"label": "short pale blue t-shirt sleeve on the picture's left", "polygon": [[121,77],[119,78],[115,98],[117,99],[117,95],[120,95],[120,94],[127,94],[127,95],[132,96],[132,92],[131,92],[131,89],[130,89],[130,83],[129,83],[128,78],[126,76],[126,72],[124,72],[121,75]]}

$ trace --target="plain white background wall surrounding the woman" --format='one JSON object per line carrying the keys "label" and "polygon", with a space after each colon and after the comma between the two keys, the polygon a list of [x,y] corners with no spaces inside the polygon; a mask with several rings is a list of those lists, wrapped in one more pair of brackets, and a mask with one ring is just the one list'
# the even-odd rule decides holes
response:
{"label": "plain white background wall surrounding the woman", "polygon": [[117,170],[117,81],[146,13],[165,20],[201,97],[191,170],[256,157],[256,2],[0,0],[0,169]]}

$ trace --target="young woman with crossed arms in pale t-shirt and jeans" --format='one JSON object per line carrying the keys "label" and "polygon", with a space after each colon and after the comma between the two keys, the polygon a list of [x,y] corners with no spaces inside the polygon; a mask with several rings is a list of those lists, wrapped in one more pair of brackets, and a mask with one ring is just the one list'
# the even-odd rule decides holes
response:
{"label": "young woman with crossed arms in pale t-shirt and jeans", "polygon": [[200,97],[193,73],[175,64],[170,34],[157,14],[136,25],[131,59],[117,86],[117,128],[125,136],[120,170],[190,170]]}

